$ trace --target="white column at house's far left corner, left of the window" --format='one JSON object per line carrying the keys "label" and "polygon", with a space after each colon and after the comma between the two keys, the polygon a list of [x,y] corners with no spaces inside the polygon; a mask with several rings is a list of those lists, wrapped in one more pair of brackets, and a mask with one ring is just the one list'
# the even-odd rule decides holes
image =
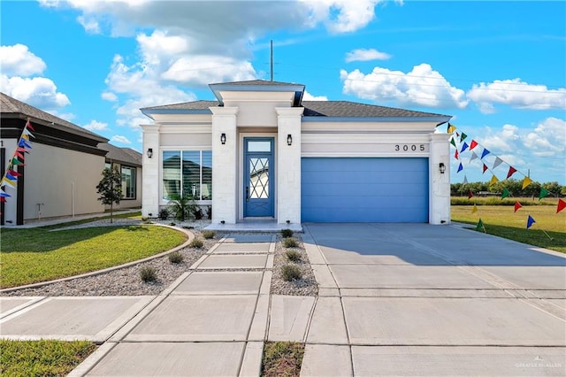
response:
{"label": "white column at house's far left corner, left of the window", "polygon": [[[157,217],[159,213],[159,125],[141,125],[143,129],[142,149],[142,216]],[[148,150],[153,156],[148,157]]]}

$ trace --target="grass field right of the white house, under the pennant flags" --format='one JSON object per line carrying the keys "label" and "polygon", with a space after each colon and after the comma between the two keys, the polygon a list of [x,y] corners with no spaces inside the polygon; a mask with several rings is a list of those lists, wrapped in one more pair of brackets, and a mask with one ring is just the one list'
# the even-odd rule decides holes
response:
{"label": "grass field right of the white house, under the pennant flags", "polygon": [[[566,253],[566,211],[556,213],[556,205],[524,206],[517,212],[513,204],[477,205],[477,208],[478,212],[471,213],[473,205],[452,205],[452,220],[475,227],[481,218],[490,235]],[[527,229],[529,215],[536,222]]]}

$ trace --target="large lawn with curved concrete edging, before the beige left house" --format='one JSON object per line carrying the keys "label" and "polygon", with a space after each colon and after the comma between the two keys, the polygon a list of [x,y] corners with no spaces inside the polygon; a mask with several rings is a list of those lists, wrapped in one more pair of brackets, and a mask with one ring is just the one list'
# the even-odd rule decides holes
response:
{"label": "large lawn with curved concrete edging, before the beige left house", "polygon": [[121,265],[170,250],[187,240],[187,235],[179,231],[156,226],[52,229],[2,229],[0,288]]}

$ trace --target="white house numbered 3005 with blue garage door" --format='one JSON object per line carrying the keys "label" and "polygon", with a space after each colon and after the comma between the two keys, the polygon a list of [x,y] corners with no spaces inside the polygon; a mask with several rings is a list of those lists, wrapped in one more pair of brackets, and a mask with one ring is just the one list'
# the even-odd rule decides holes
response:
{"label": "white house numbered 3005 with blue garage door", "polygon": [[[302,101],[304,85],[210,84],[217,101],[142,109],[142,213],[172,194],[212,223],[450,222],[450,116]],[[445,172],[446,170],[446,172]]]}

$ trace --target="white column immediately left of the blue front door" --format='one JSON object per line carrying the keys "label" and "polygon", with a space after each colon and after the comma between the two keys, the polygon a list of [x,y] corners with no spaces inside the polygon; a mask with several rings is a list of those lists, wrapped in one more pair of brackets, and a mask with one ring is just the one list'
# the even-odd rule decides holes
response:
{"label": "white column immediately left of the blue front door", "polygon": [[[237,107],[210,107],[212,112],[212,223],[235,224],[237,219]],[[226,135],[226,143],[220,137]]]}

